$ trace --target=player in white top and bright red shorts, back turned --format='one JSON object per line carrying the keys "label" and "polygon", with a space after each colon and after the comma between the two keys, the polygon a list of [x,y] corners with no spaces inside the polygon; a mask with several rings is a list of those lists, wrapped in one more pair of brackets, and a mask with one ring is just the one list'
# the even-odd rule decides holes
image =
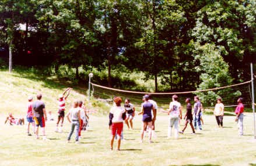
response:
{"label": "player in white top and bright red shorts, back turned", "polygon": [[115,133],[117,133],[117,150],[120,151],[121,145],[121,132],[124,127],[123,121],[126,118],[125,110],[121,107],[122,99],[120,97],[114,98],[114,102],[116,106],[113,106],[110,110],[109,114],[109,128],[111,128],[112,138],[110,142],[110,149],[113,150],[113,143],[115,139]]}

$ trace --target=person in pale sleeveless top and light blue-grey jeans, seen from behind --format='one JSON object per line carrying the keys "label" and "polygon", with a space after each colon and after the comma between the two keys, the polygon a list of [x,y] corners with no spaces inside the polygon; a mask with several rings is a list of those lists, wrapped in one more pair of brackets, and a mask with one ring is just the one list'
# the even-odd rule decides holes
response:
{"label": "person in pale sleeveless top and light blue-grey jeans, seen from behind", "polygon": [[71,122],[71,131],[69,132],[69,135],[68,135],[68,143],[70,142],[70,139],[74,130],[76,135],[75,143],[79,143],[79,127],[80,127],[80,121],[81,121],[80,110],[81,108],[79,107],[79,102],[75,100],[75,102],[73,102],[72,109],[69,110],[68,114],[66,115],[66,118],[68,118],[68,121]]}

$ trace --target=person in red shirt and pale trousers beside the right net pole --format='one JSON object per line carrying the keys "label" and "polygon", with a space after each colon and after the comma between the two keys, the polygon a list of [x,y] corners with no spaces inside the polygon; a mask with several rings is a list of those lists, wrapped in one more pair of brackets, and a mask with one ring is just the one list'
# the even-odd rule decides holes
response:
{"label": "person in red shirt and pale trousers beside the right net pole", "polygon": [[243,120],[244,120],[244,105],[243,105],[243,98],[239,98],[237,100],[237,107],[234,113],[236,113],[236,122],[237,122],[237,127],[239,129],[239,135],[242,136],[243,133]]}

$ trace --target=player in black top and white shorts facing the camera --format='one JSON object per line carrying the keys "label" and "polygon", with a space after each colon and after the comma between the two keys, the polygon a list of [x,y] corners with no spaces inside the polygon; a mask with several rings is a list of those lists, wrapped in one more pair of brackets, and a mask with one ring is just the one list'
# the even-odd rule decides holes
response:
{"label": "player in black top and white shorts facing the camera", "polygon": [[134,119],[134,114],[135,114],[135,107],[132,103],[130,103],[130,100],[128,98],[125,99],[124,101],[124,109],[126,111],[126,119],[125,119],[125,124],[127,124],[128,129],[130,129],[129,127],[129,122],[131,125],[131,129],[133,129],[132,127],[132,120]]}

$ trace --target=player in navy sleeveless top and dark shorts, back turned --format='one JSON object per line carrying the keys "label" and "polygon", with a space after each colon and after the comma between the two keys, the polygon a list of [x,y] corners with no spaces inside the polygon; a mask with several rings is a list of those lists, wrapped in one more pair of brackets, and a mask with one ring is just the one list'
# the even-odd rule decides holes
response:
{"label": "player in navy sleeveless top and dark shorts, back turned", "polygon": [[156,118],[156,110],[152,103],[149,102],[149,95],[143,96],[145,102],[142,103],[142,110],[139,112],[139,115],[142,114],[142,129],[141,129],[141,143],[143,142],[144,138],[144,131],[146,125],[149,127],[149,143],[152,143],[152,114],[151,110],[153,110],[153,120]]}

